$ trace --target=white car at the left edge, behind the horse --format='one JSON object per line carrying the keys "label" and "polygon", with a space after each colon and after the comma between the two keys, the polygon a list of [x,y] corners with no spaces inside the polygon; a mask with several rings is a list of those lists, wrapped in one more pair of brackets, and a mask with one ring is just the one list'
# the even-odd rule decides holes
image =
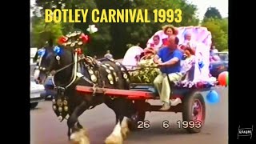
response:
{"label": "white car at the left edge, behind the horse", "polygon": [[34,77],[30,77],[30,108],[34,109],[38,106],[38,102],[45,100],[42,93],[45,91],[43,85],[39,85],[34,81]]}

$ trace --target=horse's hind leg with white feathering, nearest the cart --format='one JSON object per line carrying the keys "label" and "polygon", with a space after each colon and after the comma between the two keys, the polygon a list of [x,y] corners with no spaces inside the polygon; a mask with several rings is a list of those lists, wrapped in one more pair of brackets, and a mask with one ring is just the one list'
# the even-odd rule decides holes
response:
{"label": "horse's hind leg with white feathering, nearest the cart", "polygon": [[[124,114],[126,112],[126,104],[124,103],[125,101],[123,99],[114,99],[112,101],[113,103],[109,105],[109,107],[114,110],[117,118],[116,125],[114,126],[114,130],[108,136],[105,140],[106,144],[122,144],[123,139],[126,138],[126,135],[129,133],[129,128],[128,128],[128,122]],[[106,102],[106,105],[108,106],[109,102]]]}

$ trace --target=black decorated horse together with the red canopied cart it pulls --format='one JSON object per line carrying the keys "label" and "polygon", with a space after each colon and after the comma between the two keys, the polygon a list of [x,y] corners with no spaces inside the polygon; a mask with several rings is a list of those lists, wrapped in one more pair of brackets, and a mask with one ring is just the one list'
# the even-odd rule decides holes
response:
{"label": "black decorated horse together with the red canopied cart it pulls", "polygon": [[[206,104],[201,92],[211,90],[217,84],[216,78],[211,78],[209,74],[211,36],[202,27],[178,29],[181,43],[186,30],[191,29],[198,45],[194,53],[194,66],[184,76],[185,79],[170,82],[172,94],[168,111],[182,112],[183,128],[190,133],[198,133],[206,117]],[[160,38],[163,36],[161,32],[157,33]],[[95,60],[81,52],[88,39],[82,31],[75,31],[59,38],[58,46],[53,46],[50,41],[49,46],[38,50],[38,66],[34,71],[34,78],[38,83],[43,83],[49,74],[53,75],[57,91],[53,98],[53,110],[61,122],[67,120],[70,140],[76,143],[87,142],[88,136],[78,118],[86,110],[105,103],[114,110],[116,118],[114,130],[105,142],[122,143],[130,128],[136,130],[142,125],[148,127],[146,121],[143,122],[146,111],[159,111],[161,107],[147,102],[149,99],[159,99],[158,92],[152,85],[152,79],[158,74],[158,70],[154,63],[150,63],[151,59],[147,59],[151,57],[143,57],[150,61],[148,66],[143,62],[136,63],[136,69],[131,71],[124,62],[107,58]],[[132,61],[129,57],[125,58],[123,61]]]}

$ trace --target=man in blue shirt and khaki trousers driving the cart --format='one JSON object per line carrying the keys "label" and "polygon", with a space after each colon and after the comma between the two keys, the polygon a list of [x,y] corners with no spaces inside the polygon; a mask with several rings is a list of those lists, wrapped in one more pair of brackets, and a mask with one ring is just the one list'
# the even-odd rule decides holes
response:
{"label": "man in blue shirt and khaki trousers driving the cart", "polygon": [[[178,50],[178,38],[171,35],[168,38],[168,46],[163,47],[154,56],[154,62],[160,66],[161,74],[154,79],[154,86],[158,90],[160,100],[164,102],[160,110],[170,109],[170,83],[182,79],[181,60],[182,51]],[[161,59],[160,59],[161,58]],[[168,77],[166,77],[168,75]]]}

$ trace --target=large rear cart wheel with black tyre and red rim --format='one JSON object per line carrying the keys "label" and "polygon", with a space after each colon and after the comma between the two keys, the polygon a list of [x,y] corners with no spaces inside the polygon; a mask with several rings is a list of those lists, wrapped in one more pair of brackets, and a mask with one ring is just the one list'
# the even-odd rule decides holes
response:
{"label": "large rear cart wheel with black tyre and red rim", "polygon": [[[182,127],[189,133],[199,133],[206,118],[206,104],[202,94],[192,93],[183,100]],[[185,124],[185,121],[187,124]],[[186,126],[186,127],[185,127]]]}

